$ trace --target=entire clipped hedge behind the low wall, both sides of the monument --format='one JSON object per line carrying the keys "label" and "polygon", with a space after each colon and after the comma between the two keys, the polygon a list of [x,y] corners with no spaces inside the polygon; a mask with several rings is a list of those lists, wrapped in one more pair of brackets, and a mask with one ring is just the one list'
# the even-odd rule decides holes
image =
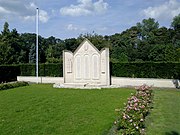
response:
{"label": "entire clipped hedge behind the low wall, both sides of the monument", "polygon": [[[110,63],[111,76],[180,79],[180,63]],[[16,81],[17,76],[36,76],[35,64],[0,66],[0,82]],[[39,76],[63,76],[63,64],[39,64]]]}

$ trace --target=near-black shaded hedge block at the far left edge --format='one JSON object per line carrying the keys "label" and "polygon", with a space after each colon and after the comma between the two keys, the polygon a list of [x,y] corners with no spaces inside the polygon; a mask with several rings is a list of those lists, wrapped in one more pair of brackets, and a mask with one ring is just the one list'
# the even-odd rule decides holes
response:
{"label": "near-black shaded hedge block at the far left edge", "polygon": [[20,68],[17,65],[0,66],[0,83],[17,81],[17,75],[20,74]]}

